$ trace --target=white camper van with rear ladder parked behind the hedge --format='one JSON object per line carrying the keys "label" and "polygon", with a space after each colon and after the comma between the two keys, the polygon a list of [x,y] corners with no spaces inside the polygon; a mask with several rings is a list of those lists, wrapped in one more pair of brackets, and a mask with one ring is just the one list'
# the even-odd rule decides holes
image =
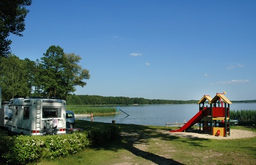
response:
{"label": "white camper van with rear ladder parked behind the hedge", "polygon": [[66,133],[66,101],[43,97],[14,98],[8,108],[12,117],[6,118],[7,134],[47,135]]}

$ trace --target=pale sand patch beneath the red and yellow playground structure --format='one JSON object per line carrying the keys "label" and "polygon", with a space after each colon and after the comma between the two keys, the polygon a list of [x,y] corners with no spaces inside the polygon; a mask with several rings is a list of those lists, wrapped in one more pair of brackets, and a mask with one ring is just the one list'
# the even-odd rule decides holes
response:
{"label": "pale sand patch beneath the red and yellow playground structure", "polygon": [[163,133],[172,134],[175,136],[182,136],[184,138],[205,138],[205,139],[218,139],[218,140],[230,140],[230,139],[241,139],[241,138],[252,138],[256,136],[256,133],[252,131],[245,131],[239,129],[231,129],[230,136],[213,136],[211,134],[200,133],[199,131],[193,132],[181,132],[181,133],[170,133],[169,131],[163,131]]}

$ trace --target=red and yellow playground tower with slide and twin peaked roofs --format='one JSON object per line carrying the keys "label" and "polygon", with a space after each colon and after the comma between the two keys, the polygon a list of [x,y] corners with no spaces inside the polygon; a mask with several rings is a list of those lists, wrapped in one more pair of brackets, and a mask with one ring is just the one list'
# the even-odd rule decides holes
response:
{"label": "red and yellow playground tower with slide and twin peaked roofs", "polygon": [[[204,133],[209,133],[214,136],[230,136],[229,111],[230,104],[232,103],[224,94],[226,94],[226,92],[217,93],[213,98],[209,95],[204,95],[197,103],[199,104],[198,113],[186,122],[184,126],[180,127],[180,129],[171,130],[170,132],[186,131],[199,122],[199,130]],[[205,101],[208,101],[210,106],[205,106]]]}

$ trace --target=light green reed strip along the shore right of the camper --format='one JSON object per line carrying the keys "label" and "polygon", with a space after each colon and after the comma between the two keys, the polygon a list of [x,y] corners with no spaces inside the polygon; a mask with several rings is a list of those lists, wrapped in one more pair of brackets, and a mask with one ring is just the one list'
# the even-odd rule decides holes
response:
{"label": "light green reed strip along the shore right of the camper", "polygon": [[98,106],[69,105],[67,106],[67,110],[74,111],[76,115],[86,115],[90,113],[93,113],[93,115],[115,115],[116,113],[116,108]]}

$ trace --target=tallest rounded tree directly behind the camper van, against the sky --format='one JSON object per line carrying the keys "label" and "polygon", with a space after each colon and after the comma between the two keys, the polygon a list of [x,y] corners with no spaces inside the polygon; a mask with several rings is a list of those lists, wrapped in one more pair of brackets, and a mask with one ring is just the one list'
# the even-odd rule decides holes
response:
{"label": "tallest rounded tree directly behind the camper van, against the sky", "polygon": [[65,54],[59,46],[49,47],[41,60],[36,80],[46,96],[67,99],[70,92],[76,91],[76,85],[84,87],[83,80],[90,78],[89,71],[78,64],[81,57]]}

